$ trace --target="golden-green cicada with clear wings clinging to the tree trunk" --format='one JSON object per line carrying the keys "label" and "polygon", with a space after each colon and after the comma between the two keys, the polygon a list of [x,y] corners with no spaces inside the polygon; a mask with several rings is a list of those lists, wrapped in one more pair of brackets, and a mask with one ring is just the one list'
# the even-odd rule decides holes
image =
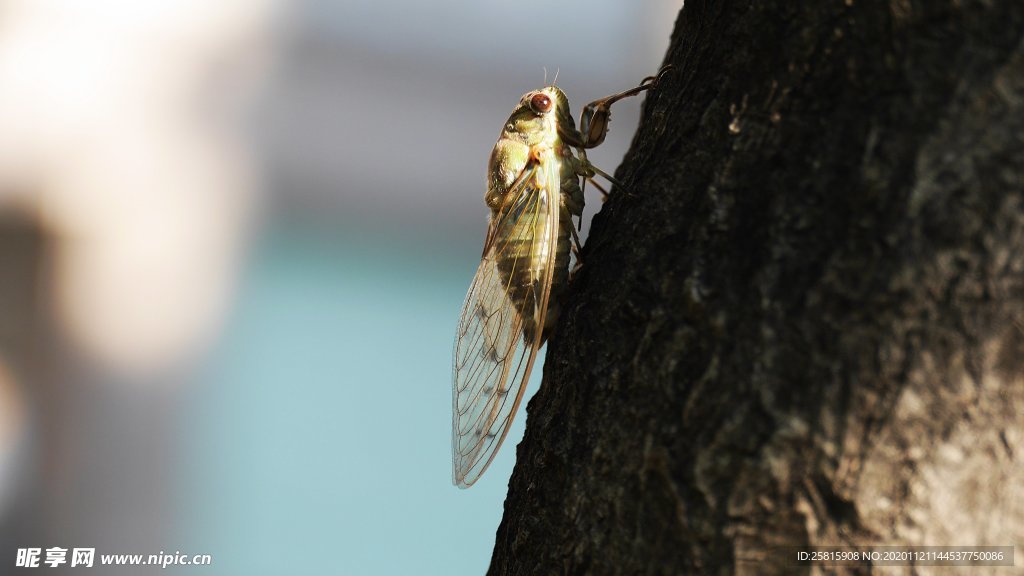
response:
{"label": "golden-green cicada with clear wings clinging to the tree trunk", "polygon": [[579,129],[554,85],[523,94],[502,127],[487,163],[483,255],[455,341],[453,481],[460,488],[494,460],[554,326],[570,250],[579,257],[572,218],[583,216],[583,186],[596,175],[614,182],[586,151],[604,141],[611,105],[653,88],[667,70],[587,105]]}

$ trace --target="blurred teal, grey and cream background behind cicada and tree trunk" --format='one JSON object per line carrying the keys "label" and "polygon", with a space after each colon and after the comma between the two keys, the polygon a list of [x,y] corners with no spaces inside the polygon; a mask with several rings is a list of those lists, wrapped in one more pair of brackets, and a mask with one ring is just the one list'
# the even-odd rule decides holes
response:
{"label": "blurred teal, grey and cream background behind cicada and tree trunk", "polygon": [[578,119],[653,74],[681,4],[0,1],[0,574],[483,573],[525,422],[452,486],[487,155],[545,69]]}

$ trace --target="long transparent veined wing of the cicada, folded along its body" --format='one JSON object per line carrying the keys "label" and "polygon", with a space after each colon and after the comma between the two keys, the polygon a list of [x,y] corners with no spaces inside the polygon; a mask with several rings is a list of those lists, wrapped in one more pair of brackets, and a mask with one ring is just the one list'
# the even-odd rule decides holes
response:
{"label": "long transparent veined wing of the cicada, folded along its body", "polygon": [[490,465],[522,401],[544,336],[558,238],[558,168],[527,165],[492,222],[463,304],[453,382],[453,481],[468,488]]}

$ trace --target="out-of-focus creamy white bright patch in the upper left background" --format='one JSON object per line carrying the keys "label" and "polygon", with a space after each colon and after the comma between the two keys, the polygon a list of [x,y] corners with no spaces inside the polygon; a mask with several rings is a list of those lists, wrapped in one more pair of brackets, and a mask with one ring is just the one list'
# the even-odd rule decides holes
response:
{"label": "out-of-focus creamy white bright patch in the upper left background", "polygon": [[58,317],[102,365],[166,367],[219,324],[256,183],[222,105],[255,89],[275,5],[2,9],[0,206],[28,203],[56,238]]}

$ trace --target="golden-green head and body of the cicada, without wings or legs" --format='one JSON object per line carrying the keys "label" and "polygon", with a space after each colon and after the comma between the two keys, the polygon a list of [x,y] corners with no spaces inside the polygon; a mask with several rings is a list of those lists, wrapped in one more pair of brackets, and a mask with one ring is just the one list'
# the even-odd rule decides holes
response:
{"label": "golden-green head and body of the cicada, without wings or legs", "polygon": [[[530,98],[538,93],[551,97],[554,102],[551,112],[538,114],[530,109]],[[555,254],[554,273],[551,278],[548,313],[542,329],[547,332],[554,325],[558,315],[559,295],[568,283],[571,218],[583,213],[579,161],[561,137],[566,126],[571,133],[578,133],[568,112],[568,100],[561,90],[551,86],[528,92],[505,123],[487,165],[487,192],[484,199],[490,208],[490,220],[494,223],[501,217],[503,210],[514,202],[514,198],[508,198],[509,191],[529,162],[536,161],[537,151],[552,151],[553,154],[544,155],[543,158],[556,163],[553,170],[549,171],[545,166],[539,166],[538,170],[542,179],[546,173],[557,174],[559,179],[559,193],[554,199],[558,202],[557,233],[554,238],[548,232],[549,209],[545,204],[537,202],[521,208],[515,225],[498,228],[501,236],[494,239],[496,245],[503,247],[498,256],[498,270],[515,307],[523,311],[523,336],[527,341],[532,340],[537,334],[535,311],[544,293],[543,283],[546,282],[545,273],[552,251]],[[554,187],[548,190],[554,190]],[[551,198],[550,195],[547,198]]]}

